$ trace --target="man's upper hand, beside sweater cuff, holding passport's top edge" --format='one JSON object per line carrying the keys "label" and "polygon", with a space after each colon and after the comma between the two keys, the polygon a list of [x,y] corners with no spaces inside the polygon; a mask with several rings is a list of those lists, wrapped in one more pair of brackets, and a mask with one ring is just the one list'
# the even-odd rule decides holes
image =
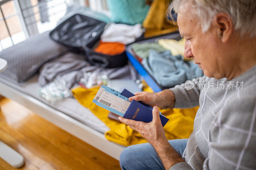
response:
{"label": "man's upper hand, beside sweater cuff, holding passport's top edge", "polygon": [[172,90],[169,89],[157,93],[137,92],[134,95],[129,98],[130,102],[132,100],[142,101],[152,107],[157,106],[160,108],[173,108],[175,104],[175,96]]}

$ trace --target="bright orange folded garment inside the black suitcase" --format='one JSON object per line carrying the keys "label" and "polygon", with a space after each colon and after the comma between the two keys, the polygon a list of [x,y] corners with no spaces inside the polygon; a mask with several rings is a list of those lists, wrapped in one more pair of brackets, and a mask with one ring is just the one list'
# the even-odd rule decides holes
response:
{"label": "bright orange folded garment inside the black suitcase", "polygon": [[95,52],[108,54],[108,55],[116,55],[123,53],[125,49],[125,45],[118,42],[102,42],[100,40],[100,44],[97,48],[95,48]]}

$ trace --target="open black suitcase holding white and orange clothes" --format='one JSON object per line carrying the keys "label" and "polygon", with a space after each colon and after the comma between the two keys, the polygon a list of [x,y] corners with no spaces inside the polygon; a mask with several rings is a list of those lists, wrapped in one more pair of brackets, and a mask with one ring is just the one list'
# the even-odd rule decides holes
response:
{"label": "open black suitcase holding white and orange clothes", "polygon": [[65,46],[73,47],[73,51],[82,52],[92,65],[101,67],[122,67],[127,64],[125,52],[106,55],[95,52],[92,47],[100,40],[107,23],[81,14],[75,14],[54,28],[50,37]]}

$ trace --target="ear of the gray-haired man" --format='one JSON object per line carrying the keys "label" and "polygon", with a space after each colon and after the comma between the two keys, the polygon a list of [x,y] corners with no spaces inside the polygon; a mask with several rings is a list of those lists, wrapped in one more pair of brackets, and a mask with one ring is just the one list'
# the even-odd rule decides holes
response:
{"label": "ear of the gray-haired man", "polygon": [[217,29],[220,40],[225,43],[233,33],[233,23],[230,16],[225,12],[218,13],[213,19],[213,25]]}

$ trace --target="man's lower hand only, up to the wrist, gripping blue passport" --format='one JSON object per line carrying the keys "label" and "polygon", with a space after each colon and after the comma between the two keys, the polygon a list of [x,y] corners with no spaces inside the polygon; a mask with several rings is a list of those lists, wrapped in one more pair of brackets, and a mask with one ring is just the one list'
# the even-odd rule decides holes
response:
{"label": "man's lower hand only, up to the wrist, gripping blue passport", "polygon": [[159,110],[155,106],[153,108],[153,120],[149,123],[125,119],[118,117],[121,122],[127,124],[131,129],[138,131],[153,147],[160,144],[162,141],[167,141],[164,128],[160,120]]}

